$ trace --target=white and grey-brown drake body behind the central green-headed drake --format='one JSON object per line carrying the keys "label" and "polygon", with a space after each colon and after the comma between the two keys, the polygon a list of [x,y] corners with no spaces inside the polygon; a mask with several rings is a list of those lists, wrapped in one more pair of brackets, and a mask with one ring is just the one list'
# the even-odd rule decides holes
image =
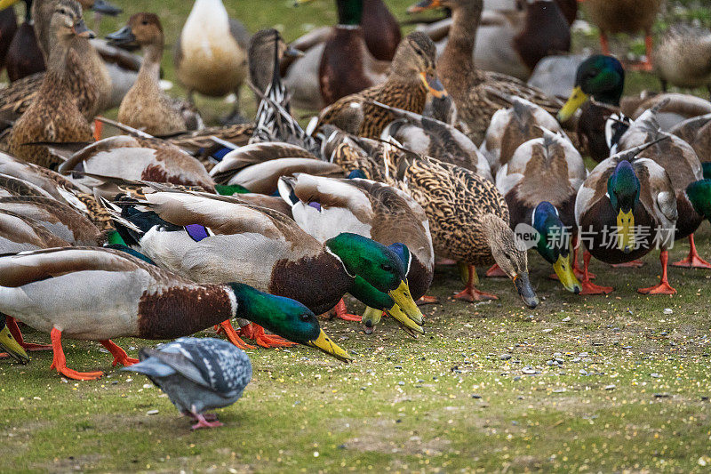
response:
{"label": "white and grey-brown drake body behind the central green-headed drake", "polygon": [[[341,232],[352,232],[387,245],[403,255],[401,260],[412,299],[418,301],[425,296],[434,276],[435,253],[427,216],[408,194],[376,181],[307,173],[283,176],[278,186],[284,202],[291,206],[294,221],[309,235],[326,242]],[[358,284],[368,286],[373,293],[378,292],[363,278],[359,278]],[[379,298],[387,300],[388,296],[381,293]],[[394,301],[387,304],[388,311],[396,307]],[[345,309],[342,311],[345,313]],[[377,317],[366,317],[363,324],[371,329],[382,312],[372,310],[370,313]]]}

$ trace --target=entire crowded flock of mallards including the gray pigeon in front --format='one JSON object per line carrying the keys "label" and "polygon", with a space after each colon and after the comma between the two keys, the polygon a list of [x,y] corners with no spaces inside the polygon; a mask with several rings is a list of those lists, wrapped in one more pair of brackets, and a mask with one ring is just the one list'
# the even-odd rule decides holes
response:
{"label": "entire crowded flock of mallards including the gray pigeon in front", "polygon": [[[497,299],[478,267],[509,278],[530,308],[532,249],[579,294],[613,291],[592,282],[592,257],[634,267],[651,252],[661,278],[639,292],[674,294],[667,249],[680,239],[689,256],[673,265],[711,269],[693,238],[711,217],[711,103],[622,97],[625,68],[608,47],[608,34],[643,30],[648,53],[628,67],[656,71],[665,91],[711,84],[708,32],[675,27],[653,47],[660,0],[587,0],[604,53],[572,62],[562,53],[575,0],[506,11],[422,0],[407,36],[381,0],[337,0],[337,26],[292,44],[276,29],[252,35],[221,0],[196,0],[175,41],[187,100],[162,88],[156,14],[99,39],[83,10],[121,13],[102,0],[26,0],[20,27],[14,2],[0,0],[12,80],[0,90],[5,357],[51,349],[53,369],[92,380],[101,373],[68,368],[62,338],[99,341],[204,428],[252,378],[244,339],[348,362],[317,315],[365,333],[387,315],[424,333],[435,262],[459,266],[458,300]],[[558,76],[571,78],[567,101],[547,90]],[[240,89],[257,99],[254,120]],[[196,93],[236,94],[227,125],[204,126]],[[316,115],[302,128],[292,107]],[[100,116],[111,108],[116,121]],[[583,157],[598,163],[588,171]],[[19,323],[52,344],[25,341]],[[212,326],[228,341],[188,337]],[[137,359],[118,337],[178,339]]]}

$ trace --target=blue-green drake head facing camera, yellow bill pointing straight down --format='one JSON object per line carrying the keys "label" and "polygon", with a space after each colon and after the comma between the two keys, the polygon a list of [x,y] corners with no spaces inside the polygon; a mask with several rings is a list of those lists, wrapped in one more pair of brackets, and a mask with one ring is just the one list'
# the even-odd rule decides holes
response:
{"label": "blue-green drake head facing camera, yellow bill pointing straight down", "polygon": [[622,160],[607,180],[607,196],[617,213],[618,249],[630,253],[635,248],[635,205],[639,201],[640,182],[635,169]]}

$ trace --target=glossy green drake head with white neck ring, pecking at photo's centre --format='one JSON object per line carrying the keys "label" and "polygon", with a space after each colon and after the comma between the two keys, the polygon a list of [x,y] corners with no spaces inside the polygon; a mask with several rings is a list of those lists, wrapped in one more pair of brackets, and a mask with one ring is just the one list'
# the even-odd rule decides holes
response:
{"label": "glossy green drake head with white neck ring, pecking at photo's centre", "polygon": [[[407,285],[407,269],[397,253],[370,238],[348,232],[327,240],[325,247],[343,263],[349,276],[363,278],[379,293],[386,293],[411,320],[422,321],[422,312],[412,300]],[[367,296],[357,294],[358,288],[352,288],[349,292],[359,300],[359,296]],[[370,301],[363,302],[372,308],[391,308],[370,304]]]}

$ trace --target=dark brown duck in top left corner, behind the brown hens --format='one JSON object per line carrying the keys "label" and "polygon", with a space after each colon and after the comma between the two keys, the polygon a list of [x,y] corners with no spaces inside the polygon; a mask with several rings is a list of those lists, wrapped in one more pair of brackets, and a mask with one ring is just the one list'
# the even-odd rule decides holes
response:
{"label": "dark brown duck in top left corner, behind the brown hens", "polygon": [[5,56],[7,77],[11,82],[44,71],[44,53],[37,42],[32,0],[25,0],[25,21],[12,36]]}

